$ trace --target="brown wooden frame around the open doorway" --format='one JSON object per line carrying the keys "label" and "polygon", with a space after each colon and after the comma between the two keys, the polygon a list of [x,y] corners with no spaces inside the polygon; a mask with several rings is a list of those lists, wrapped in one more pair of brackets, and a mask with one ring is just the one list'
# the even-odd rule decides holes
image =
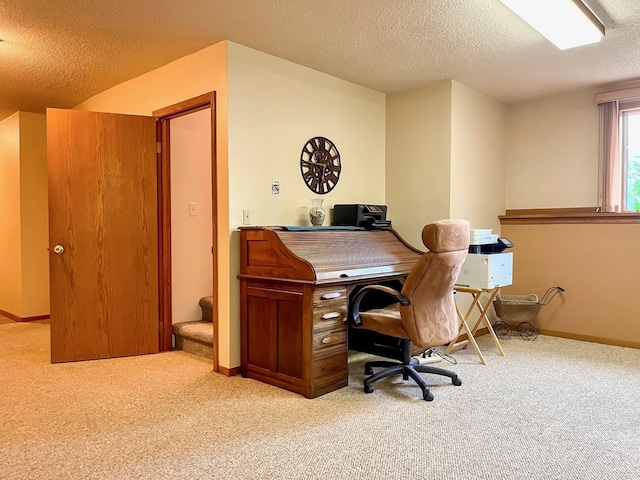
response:
{"label": "brown wooden frame around the open doorway", "polygon": [[211,253],[213,255],[213,371],[218,371],[218,254],[216,94],[205,93],[155,110],[158,138],[158,272],[160,351],[171,350],[173,334],[171,289],[171,120],[211,108]]}

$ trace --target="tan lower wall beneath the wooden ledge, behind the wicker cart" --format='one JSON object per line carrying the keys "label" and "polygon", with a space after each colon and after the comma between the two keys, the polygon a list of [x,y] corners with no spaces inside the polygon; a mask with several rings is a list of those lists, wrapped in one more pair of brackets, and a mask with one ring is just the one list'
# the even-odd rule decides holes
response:
{"label": "tan lower wall beneath the wooden ledge, behind the wicker cart", "polygon": [[514,282],[505,294],[566,289],[538,315],[555,335],[640,348],[640,225],[503,225],[514,248]]}

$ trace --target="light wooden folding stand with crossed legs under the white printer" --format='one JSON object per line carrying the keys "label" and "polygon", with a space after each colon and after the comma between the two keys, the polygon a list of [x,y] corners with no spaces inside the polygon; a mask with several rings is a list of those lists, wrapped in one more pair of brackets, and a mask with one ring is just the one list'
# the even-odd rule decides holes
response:
{"label": "light wooden folding stand with crossed legs under the white printer", "polygon": [[[455,347],[463,346],[463,348],[467,348],[469,344],[471,344],[475,349],[476,353],[478,354],[478,357],[480,357],[480,362],[483,365],[486,365],[487,362],[484,359],[484,355],[482,355],[482,352],[480,351],[480,347],[478,347],[478,343],[476,342],[476,339],[475,339],[475,335],[478,332],[478,329],[484,323],[487,329],[489,330],[489,335],[491,335],[491,338],[493,339],[493,343],[496,345],[498,352],[500,353],[500,355],[504,357],[504,350],[502,350],[502,345],[500,345],[500,342],[498,341],[498,337],[496,336],[496,332],[493,330],[493,327],[491,326],[491,322],[489,321],[489,317],[487,316],[487,311],[491,307],[491,304],[493,300],[496,298],[496,295],[498,295],[498,292],[500,292],[500,287],[486,289],[486,288],[465,287],[461,285],[456,285],[455,289],[456,289],[456,292],[458,292],[456,296],[459,295],[460,293],[469,293],[472,296],[472,300],[471,300],[471,305],[469,305],[469,308],[467,309],[467,312],[465,313],[465,315],[462,315],[462,312],[458,307],[458,302],[456,299],[456,311],[458,312],[458,318],[460,319],[460,331],[458,333],[458,336],[451,341],[451,343],[449,344],[449,346],[447,347],[444,353],[448,355],[449,353],[451,353],[451,351]],[[481,296],[483,293],[486,293],[489,295],[488,299],[484,303],[481,302]],[[476,321],[475,326],[473,327],[473,329],[471,329],[469,328],[468,320],[476,308],[480,311],[480,315],[478,316],[478,320]],[[465,333],[467,334],[467,338],[465,340],[458,341],[458,339]]]}

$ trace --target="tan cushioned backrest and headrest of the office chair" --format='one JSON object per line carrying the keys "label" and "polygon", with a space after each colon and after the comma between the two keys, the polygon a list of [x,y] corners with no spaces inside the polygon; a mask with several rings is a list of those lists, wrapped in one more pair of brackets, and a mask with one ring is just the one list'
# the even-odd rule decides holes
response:
{"label": "tan cushioned backrest and headrest of the office chair", "polygon": [[404,283],[402,295],[411,303],[400,307],[400,315],[411,343],[429,348],[449,343],[458,335],[453,291],[469,250],[469,222],[447,219],[430,223],[422,229],[422,242],[429,251]]}

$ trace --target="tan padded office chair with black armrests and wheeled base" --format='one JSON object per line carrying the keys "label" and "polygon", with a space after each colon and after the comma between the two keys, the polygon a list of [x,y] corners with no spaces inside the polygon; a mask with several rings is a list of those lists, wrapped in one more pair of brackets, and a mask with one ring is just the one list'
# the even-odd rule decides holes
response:
{"label": "tan padded office chair with black armrests and wheeled base", "polygon": [[[412,345],[420,349],[445,345],[458,335],[458,317],[453,299],[454,286],[469,249],[469,222],[439,220],[422,229],[422,242],[428,251],[409,272],[402,291],[385,285],[367,285],[351,301],[351,322],[355,328],[373,330],[401,339],[402,363],[392,361],[367,362],[364,367],[365,393],[372,393],[372,384],[383,378],[402,373],[411,377],[422,389],[426,401],[433,400],[420,373],[444,375],[451,382],[462,385],[458,375],[443,368],[420,365],[411,357]],[[360,311],[363,297],[382,292],[395,300],[385,308]],[[377,373],[373,369],[384,367]]]}

